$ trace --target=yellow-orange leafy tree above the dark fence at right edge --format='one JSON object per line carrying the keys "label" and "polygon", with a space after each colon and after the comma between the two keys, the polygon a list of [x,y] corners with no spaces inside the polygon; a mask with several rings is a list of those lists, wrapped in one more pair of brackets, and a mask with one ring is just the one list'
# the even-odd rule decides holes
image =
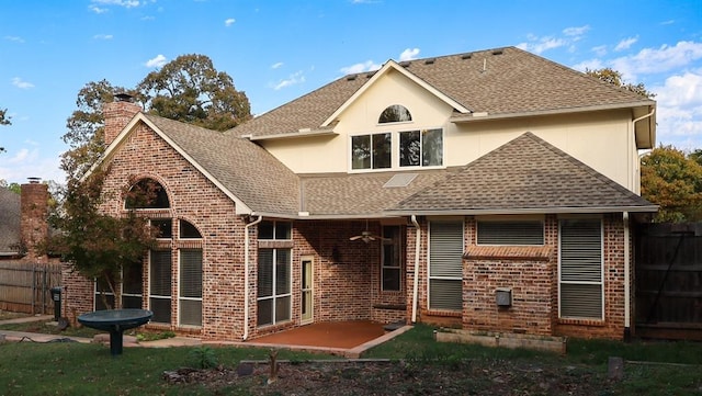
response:
{"label": "yellow-orange leafy tree above the dark fence at right edge", "polygon": [[657,147],[642,158],[641,192],[660,206],[656,222],[702,220],[702,165],[698,158],[672,146]]}

